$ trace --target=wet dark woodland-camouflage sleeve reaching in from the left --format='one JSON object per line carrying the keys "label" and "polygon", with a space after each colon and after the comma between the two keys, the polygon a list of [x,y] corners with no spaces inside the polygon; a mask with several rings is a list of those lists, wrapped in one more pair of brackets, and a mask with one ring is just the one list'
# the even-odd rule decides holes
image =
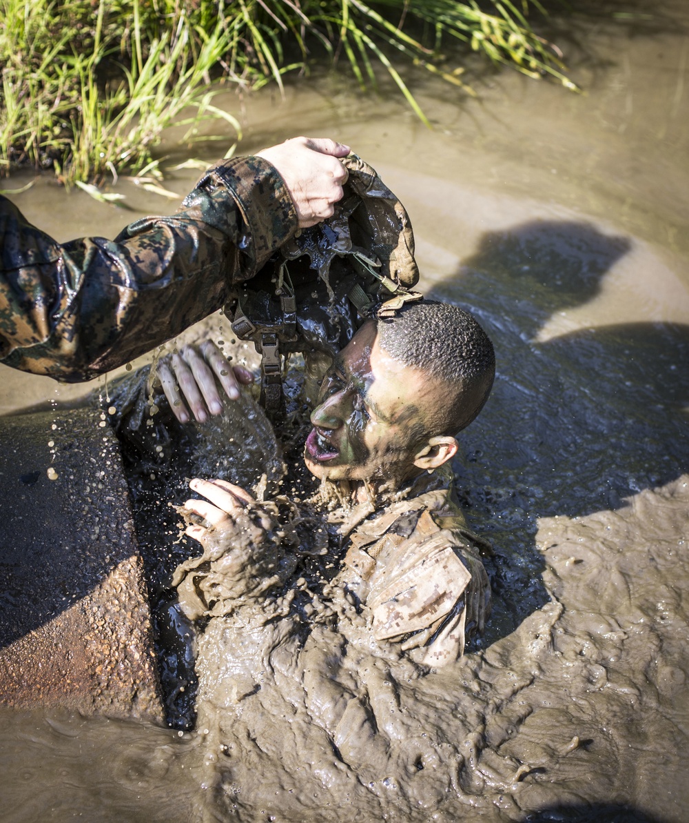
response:
{"label": "wet dark woodland-camouflage sleeve reaching in from the left", "polygon": [[169,217],[58,244],[0,197],[0,362],[78,382],[219,309],[297,229],[280,175],[240,157]]}

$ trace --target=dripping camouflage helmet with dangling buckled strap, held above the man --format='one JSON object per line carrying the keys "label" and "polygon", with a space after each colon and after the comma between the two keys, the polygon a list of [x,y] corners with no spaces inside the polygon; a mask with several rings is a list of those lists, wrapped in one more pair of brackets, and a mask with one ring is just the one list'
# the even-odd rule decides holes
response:
{"label": "dripping camouflage helmet with dangling buckled strap, held above the man", "polygon": [[334,357],[372,316],[394,314],[418,281],[414,233],[405,207],[370,165],[352,154],[335,214],[298,230],[239,287],[225,307],[232,328],[261,353],[261,402],[282,403],[280,355]]}

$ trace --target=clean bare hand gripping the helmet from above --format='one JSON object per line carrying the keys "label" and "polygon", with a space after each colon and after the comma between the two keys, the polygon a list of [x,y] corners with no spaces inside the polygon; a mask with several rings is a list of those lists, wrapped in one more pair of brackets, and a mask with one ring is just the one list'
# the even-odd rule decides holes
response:
{"label": "clean bare hand gripping the helmet from above", "polygon": [[337,158],[348,154],[349,146],[326,137],[293,137],[257,156],[275,166],[294,202],[299,228],[306,229],[335,213],[348,174]]}

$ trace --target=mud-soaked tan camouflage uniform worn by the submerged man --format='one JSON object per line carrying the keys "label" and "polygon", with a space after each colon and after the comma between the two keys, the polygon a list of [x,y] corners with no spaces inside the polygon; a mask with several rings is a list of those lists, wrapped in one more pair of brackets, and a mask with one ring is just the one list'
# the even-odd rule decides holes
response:
{"label": "mud-soaked tan camouflage uniform worn by the submerged man", "polygon": [[[418,475],[405,492],[404,500],[375,509],[363,503],[347,513],[297,507],[285,514],[280,497],[242,509],[174,572],[184,613],[192,620],[229,616],[260,599],[265,629],[288,615],[287,597],[293,615],[316,607],[328,623],[338,613],[345,637],[360,638],[363,630],[383,655],[396,647],[395,657],[402,651],[424,666],[453,663],[488,618],[491,588],[481,557],[492,556],[492,548],[466,527],[450,468]],[[325,586],[328,575],[309,560],[318,556],[327,564],[342,558]],[[275,588],[282,594],[276,600],[268,594]],[[247,621],[240,621],[243,632]],[[279,634],[285,632],[287,624]]]}

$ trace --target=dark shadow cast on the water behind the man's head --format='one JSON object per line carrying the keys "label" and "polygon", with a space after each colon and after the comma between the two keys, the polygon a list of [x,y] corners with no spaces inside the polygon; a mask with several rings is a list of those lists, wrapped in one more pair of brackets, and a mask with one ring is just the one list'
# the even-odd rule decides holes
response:
{"label": "dark shadow cast on the water behind the man's head", "polygon": [[542,517],[617,509],[689,469],[689,326],[621,323],[537,342],[558,312],[599,295],[631,249],[574,221],[483,235],[433,297],[472,311],[497,352],[493,393],[460,436],[460,496],[497,551],[492,642],[548,596]]}

